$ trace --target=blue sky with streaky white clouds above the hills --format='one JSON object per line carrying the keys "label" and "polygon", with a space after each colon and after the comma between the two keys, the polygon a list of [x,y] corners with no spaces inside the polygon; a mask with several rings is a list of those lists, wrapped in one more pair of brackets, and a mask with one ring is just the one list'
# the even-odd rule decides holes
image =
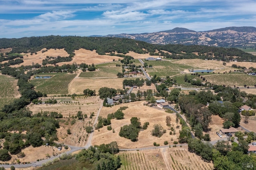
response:
{"label": "blue sky with streaky white clouds above the hills", "polygon": [[256,27],[256,0],[0,0],[0,38]]}

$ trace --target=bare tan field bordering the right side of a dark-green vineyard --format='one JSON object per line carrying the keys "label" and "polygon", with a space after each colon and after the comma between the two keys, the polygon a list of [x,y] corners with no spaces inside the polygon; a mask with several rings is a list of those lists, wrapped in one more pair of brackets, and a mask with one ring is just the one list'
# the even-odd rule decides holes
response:
{"label": "bare tan field bordering the right side of a dark-green vineyard", "polygon": [[124,79],[134,79],[134,78],[78,78],[73,79],[68,85],[69,94],[83,94],[85,89],[95,90],[98,93],[101,87],[109,87],[114,89],[122,89]]}

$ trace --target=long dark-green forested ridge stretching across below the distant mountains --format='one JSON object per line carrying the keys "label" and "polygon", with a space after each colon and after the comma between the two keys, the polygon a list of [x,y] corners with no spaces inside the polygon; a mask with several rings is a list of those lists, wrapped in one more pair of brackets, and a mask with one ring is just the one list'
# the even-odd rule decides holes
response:
{"label": "long dark-green forested ridge stretching across below the distant mountains", "polygon": [[[219,59],[222,61],[236,59],[238,61],[256,62],[254,55],[245,53],[244,51],[236,48],[179,44],[157,45],[128,38],[45,36],[30,38],[25,37],[18,39],[0,39],[0,48],[8,47],[12,47],[12,51],[10,53],[35,53],[43,48],[64,48],[70,54],[70,57],[73,57],[74,50],[84,48],[88,50],[96,50],[96,52],[100,55],[115,51],[123,54],[127,54],[129,51],[134,51],[136,53],[149,53],[150,55],[160,55],[174,59],[200,58]],[[172,54],[161,50],[168,51]],[[195,53],[198,53],[198,55]],[[3,58],[2,60],[5,59]]]}

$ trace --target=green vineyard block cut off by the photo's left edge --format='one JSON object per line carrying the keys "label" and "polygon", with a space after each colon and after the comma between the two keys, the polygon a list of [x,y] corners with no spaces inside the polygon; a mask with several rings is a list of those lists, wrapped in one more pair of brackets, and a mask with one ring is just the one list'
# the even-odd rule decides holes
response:
{"label": "green vineyard block cut off by the photo's left edge", "polygon": [[20,97],[17,80],[14,77],[0,75],[0,109],[8,105],[15,98]]}

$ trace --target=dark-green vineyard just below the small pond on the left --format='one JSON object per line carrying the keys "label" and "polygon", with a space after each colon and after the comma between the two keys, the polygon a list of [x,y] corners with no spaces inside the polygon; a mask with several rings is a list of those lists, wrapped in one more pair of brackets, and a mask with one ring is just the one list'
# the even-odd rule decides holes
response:
{"label": "dark-green vineyard just below the small pond on the left", "polygon": [[68,94],[68,84],[76,77],[76,74],[54,75],[50,79],[31,80],[36,91],[46,94]]}

